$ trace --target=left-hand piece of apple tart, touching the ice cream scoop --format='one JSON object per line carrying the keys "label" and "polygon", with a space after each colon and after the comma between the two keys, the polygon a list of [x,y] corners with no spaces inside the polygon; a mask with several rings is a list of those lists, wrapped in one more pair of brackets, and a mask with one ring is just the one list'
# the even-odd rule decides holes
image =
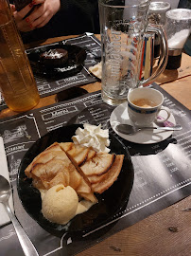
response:
{"label": "left-hand piece of apple tart, touching the ice cream scoop", "polygon": [[26,168],[26,176],[33,179],[33,186],[38,190],[49,190],[63,184],[71,186],[79,197],[96,202],[91,185],[71,162],[59,143],[55,142],[40,155],[36,156]]}

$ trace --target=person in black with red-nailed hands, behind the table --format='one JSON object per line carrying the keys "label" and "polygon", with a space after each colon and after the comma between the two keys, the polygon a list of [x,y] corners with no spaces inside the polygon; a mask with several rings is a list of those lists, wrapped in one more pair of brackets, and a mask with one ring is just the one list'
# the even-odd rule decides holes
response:
{"label": "person in black with red-nailed hands, behind the table", "polygon": [[[36,6],[40,1],[44,3],[40,7]],[[13,12],[25,42],[28,42],[26,38],[30,37],[31,32],[38,39],[85,31],[99,33],[98,0],[36,0],[34,11],[25,18],[33,7],[27,5]]]}

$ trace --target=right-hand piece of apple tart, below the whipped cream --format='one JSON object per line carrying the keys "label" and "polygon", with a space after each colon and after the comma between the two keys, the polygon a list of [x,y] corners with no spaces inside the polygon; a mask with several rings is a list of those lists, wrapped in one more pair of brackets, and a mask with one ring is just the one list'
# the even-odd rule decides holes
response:
{"label": "right-hand piece of apple tart, below the whipped cream", "polygon": [[[78,171],[82,171],[86,176],[93,191],[102,193],[108,190],[120,174],[124,155],[113,155],[103,152],[97,153],[92,148],[76,145],[73,142],[69,143],[70,147],[68,147],[68,142],[60,143],[61,148],[70,156],[73,162],[76,162]],[[80,148],[80,152],[78,147]],[[79,155],[83,155],[83,158],[81,158],[80,161],[76,161]]]}

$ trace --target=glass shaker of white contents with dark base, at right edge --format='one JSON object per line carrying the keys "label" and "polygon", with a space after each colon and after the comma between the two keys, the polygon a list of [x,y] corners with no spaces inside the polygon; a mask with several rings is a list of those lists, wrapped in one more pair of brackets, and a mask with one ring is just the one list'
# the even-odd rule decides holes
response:
{"label": "glass shaker of white contents with dark base, at right edge", "polygon": [[182,48],[191,32],[191,9],[170,9],[166,13],[165,31],[168,44],[166,69],[181,66]]}

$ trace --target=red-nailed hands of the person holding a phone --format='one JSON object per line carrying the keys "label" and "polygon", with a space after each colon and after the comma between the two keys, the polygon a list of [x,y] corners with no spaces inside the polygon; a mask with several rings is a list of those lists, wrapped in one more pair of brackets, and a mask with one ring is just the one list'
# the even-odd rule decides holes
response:
{"label": "red-nailed hands of the person holding a phone", "polygon": [[[32,8],[34,8],[32,13],[25,18]],[[18,29],[26,32],[46,25],[59,9],[61,9],[60,0],[33,0],[24,9],[13,11],[13,15]]]}

